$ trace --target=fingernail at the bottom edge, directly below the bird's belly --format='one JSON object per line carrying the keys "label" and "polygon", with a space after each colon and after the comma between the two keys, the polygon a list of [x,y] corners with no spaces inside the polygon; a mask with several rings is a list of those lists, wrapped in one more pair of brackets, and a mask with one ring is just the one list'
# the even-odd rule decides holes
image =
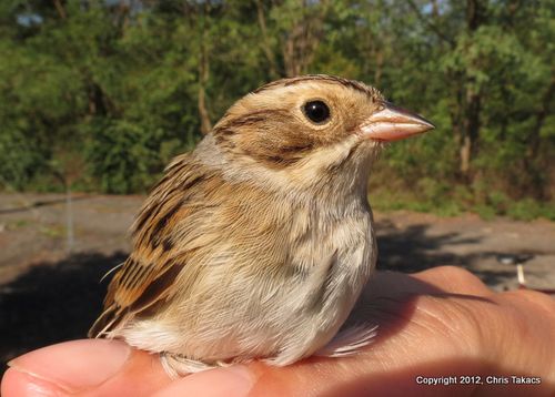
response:
{"label": "fingernail at the bottom edge, directly below the bird's belly", "polygon": [[244,365],[234,365],[188,375],[154,396],[245,397],[254,381],[255,376],[251,369]]}

